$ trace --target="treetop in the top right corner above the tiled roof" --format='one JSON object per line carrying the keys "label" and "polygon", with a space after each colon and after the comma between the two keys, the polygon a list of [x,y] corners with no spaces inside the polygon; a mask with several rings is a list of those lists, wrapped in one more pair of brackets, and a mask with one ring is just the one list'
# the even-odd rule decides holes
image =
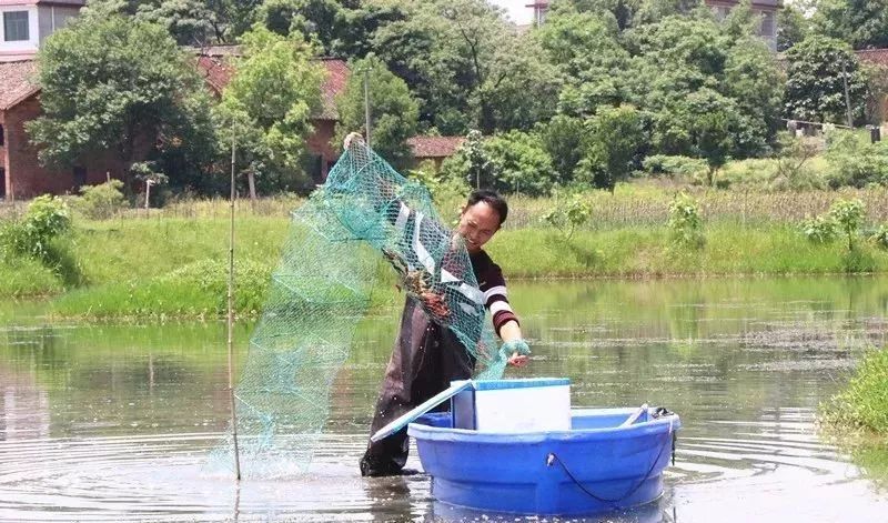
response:
{"label": "treetop in the top right corner above the tiled roof", "polygon": [[818,0],[811,23],[826,37],[854,49],[888,47],[888,6],[884,0]]}

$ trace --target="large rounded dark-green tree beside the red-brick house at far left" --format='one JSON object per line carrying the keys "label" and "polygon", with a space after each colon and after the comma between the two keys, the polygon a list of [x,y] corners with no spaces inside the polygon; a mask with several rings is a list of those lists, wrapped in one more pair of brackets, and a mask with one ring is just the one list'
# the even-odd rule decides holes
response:
{"label": "large rounded dark-green tree beside the red-brick house at far left", "polygon": [[212,131],[201,124],[206,93],[163,28],[121,16],[79,19],[48,38],[38,60],[43,115],[27,129],[43,164],[71,165],[110,150],[124,163],[117,174],[129,178],[145,152],[138,143],[155,138],[154,153],[188,148],[185,164],[211,155]]}

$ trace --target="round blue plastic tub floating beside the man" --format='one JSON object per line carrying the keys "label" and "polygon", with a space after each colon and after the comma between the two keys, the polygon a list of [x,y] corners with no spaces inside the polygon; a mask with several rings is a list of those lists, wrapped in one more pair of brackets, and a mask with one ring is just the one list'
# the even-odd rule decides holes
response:
{"label": "round blue plastic tub floating beside the man", "polygon": [[663,493],[678,415],[647,409],[574,409],[572,429],[485,433],[453,429],[450,413],[408,425],[438,501],[478,511],[588,515]]}

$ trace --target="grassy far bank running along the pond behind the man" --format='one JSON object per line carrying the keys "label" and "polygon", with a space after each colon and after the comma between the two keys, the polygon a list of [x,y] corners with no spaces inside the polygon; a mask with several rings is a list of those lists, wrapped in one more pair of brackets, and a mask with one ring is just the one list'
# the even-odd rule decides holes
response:
{"label": "grassy far bank running along the pond behind the man", "polygon": [[[616,193],[593,192],[592,218],[567,238],[542,215],[556,199],[512,199],[507,228],[488,251],[507,278],[662,278],[733,274],[825,274],[888,272],[888,251],[865,241],[849,253],[841,242],[816,244],[797,220],[823,212],[835,192],[697,194],[705,219],[702,249],[677,247],[666,227],[673,191],[625,185]],[[884,223],[885,190],[842,198],[868,203],[867,224]],[[289,232],[287,209],[297,201],[240,202],[236,221],[238,310],[262,308],[271,271]],[[885,205],[882,205],[885,203]],[[456,202],[443,203],[455,217]],[[805,214],[801,214],[804,218]],[[224,311],[228,204],[180,202],[163,210],[128,211],[105,221],[74,220],[64,240],[65,274],[36,261],[0,264],[0,296],[54,296],[63,316],[212,316]],[[58,272],[58,271],[57,271]],[[71,274],[73,272],[73,274]],[[383,279],[381,301],[391,279]]]}

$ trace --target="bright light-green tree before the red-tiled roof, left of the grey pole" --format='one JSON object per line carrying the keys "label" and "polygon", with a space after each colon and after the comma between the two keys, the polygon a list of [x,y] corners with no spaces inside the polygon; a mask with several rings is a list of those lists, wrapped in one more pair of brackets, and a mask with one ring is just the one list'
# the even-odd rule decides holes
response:
{"label": "bright light-green tree before the red-tiled roof, left of the grey pole", "polygon": [[[312,132],[309,119],[321,104],[323,69],[297,36],[282,37],[256,24],[241,44],[238,73],[218,108],[221,127],[238,142],[238,168],[248,174],[251,190],[256,174],[263,191],[307,190],[311,180],[302,164]],[[231,140],[224,135],[223,147]]]}

